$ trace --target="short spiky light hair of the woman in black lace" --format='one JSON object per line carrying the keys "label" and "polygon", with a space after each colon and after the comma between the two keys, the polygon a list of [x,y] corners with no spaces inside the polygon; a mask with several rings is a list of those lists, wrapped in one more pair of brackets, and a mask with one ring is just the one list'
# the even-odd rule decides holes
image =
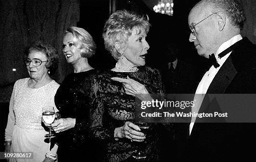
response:
{"label": "short spiky light hair of the woman in black lace", "polygon": [[102,37],[105,48],[115,60],[118,60],[121,53],[115,49],[115,42],[126,43],[134,30],[136,35],[141,34],[143,31],[147,34],[149,28],[150,24],[147,15],[143,16],[126,10],[114,12],[110,15],[103,28]]}

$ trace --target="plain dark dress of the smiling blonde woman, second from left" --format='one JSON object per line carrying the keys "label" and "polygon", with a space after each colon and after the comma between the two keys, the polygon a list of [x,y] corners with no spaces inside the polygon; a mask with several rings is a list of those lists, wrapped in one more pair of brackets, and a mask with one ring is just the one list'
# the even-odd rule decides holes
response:
{"label": "plain dark dress of the smiling blonde woman, second from left", "polygon": [[89,92],[97,70],[72,73],[65,77],[55,95],[55,105],[62,118],[76,118],[74,128],[60,132],[53,140],[59,145],[58,162],[80,162],[90,154],[88,140]]}

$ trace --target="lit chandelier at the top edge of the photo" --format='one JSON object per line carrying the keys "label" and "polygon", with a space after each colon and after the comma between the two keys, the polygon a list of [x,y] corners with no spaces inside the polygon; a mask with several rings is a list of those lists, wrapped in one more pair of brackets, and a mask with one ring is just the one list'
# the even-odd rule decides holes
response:
{"label": "lit chandelier at the top edge of the photo", "polygon": [[160,0],[158,4],[153,7],[154,12],[173,15],[173,0]]}

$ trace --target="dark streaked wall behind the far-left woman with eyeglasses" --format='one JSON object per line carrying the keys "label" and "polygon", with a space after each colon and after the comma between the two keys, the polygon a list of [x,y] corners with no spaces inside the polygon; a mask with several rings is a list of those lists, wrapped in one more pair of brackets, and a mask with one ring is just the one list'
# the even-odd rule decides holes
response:
{"label": "dark streaked wall behind the far-left woman with eyeglasses", "polygon": [[[0,1],[0,151],[9,100],[16,80],[28,77],[23,64],[25,47],[35,40],[55,46],[61,53],[62,36],[80,18],[78,0],[1,0]],[[56,75],[57,81],[71,72],[65,58]],[[13,71],[13,68],[16,71]]]}

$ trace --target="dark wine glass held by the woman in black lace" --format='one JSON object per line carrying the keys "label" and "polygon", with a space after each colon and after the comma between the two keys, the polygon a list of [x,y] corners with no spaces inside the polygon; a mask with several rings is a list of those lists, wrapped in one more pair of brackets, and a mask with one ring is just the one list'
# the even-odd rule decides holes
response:
{"label": "dark wine glass held by the woman in black lace", "polygon": [[[138,125],[141,129],[141,132],[146,136],[148,128],[150,126],[149,123],[135,123],[135,125]],[[137,162],[144,162],[146,161],[147,154],[145,152],[145,141],[138,142],[138,150],[132,154],[132,157],[136,159]],[[144,151],[143,151],[144,150]]]}

